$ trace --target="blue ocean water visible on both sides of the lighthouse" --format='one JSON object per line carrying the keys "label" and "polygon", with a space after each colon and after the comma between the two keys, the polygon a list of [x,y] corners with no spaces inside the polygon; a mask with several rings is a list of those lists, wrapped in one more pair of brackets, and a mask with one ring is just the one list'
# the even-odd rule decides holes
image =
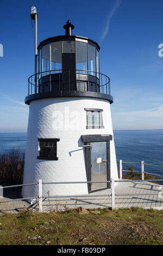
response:
{"label": "blue ocean water visible on both sides of the lighthouse", "polygon": [[[162,130],[115,130],[117,166],[124,162],[141,162],[163,166],[163,129]],[[18,148],[26,149],[26,133],[0,133],[0,152]],[[141,164],[123,163],[123,169],[133,166],[141,170]],[[145,165],[145,172],[163,175],[163,168]],[[163,177],[162,177],[163,178]]]}

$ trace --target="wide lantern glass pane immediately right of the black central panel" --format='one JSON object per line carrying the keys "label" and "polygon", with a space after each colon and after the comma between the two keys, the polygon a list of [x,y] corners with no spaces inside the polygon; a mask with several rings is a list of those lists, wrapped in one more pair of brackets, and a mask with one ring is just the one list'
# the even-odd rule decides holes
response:
{"label": "wide lantern glass pane immediately right of the black central panel", "polygon": [[76,69],[87,74],[87,43],[76,41]]}

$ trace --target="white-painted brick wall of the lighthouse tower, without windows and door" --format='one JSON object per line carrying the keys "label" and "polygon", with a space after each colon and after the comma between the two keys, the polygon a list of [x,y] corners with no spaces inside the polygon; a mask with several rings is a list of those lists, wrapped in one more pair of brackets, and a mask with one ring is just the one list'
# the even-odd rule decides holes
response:
{"label": "white-painted brick wall of the lighthouse tower, without windows and door", "polygon": [[[102,108],[104,129],[86,129],[86,111],[84,108]],[[70,122],[70,127],[54,130],[56,111],[60,111],[59,122]],[[68,114],[69,111],[69,114]],[[78,115],[77,130],[73,130],[74,115]],[[75,122],[74,122],[75,123]],[[81,124],[81,125],[80,125]],[[74,124],[76,125],[76,124]],[[111,134],[112,122],[110,103],[101,99],[84,97],[60,97],[40,99],[30,102],[27,131],[26,159],[23,183],[42,181],[86,181],[85,150],[78,147],[84,143],[81,135]],[[38,160],[38,138],[60,138],[57,142],[58,161]],[[114,139],[110,142],[111,177],[118,178]],[[85,194],[87,184],[44,185],[43,195]],[[37,195],[37,186],[23,187],[22,196]]]}

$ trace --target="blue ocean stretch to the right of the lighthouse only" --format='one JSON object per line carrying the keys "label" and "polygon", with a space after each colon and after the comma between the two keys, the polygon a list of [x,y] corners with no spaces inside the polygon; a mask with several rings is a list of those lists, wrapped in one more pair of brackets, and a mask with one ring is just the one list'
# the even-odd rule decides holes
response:
{"label": "blue ocean stretch to the right of the lighthouse only", "polygon": [[[163,166],[163,129],[114,131],[117,166],[124,162],[141,162]],[[133,166],[141,170],[141,164],[124,164],[123,170]],[[147,166],[145,172],[163,175],[163,168]],[[163,179],[163,177],[161,178]],[[162,183],[162,182],[161,182]]]}

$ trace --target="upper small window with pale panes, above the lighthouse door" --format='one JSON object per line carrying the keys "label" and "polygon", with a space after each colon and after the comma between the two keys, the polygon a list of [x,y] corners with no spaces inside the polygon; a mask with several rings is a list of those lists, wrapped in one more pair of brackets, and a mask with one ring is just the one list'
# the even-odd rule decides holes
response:
{"label": "upper small window with pale panes, above the lighthouse door", "polygon": [[86,111],[86,129],[102,129],[103,126],[103,109],[84,108]]}

